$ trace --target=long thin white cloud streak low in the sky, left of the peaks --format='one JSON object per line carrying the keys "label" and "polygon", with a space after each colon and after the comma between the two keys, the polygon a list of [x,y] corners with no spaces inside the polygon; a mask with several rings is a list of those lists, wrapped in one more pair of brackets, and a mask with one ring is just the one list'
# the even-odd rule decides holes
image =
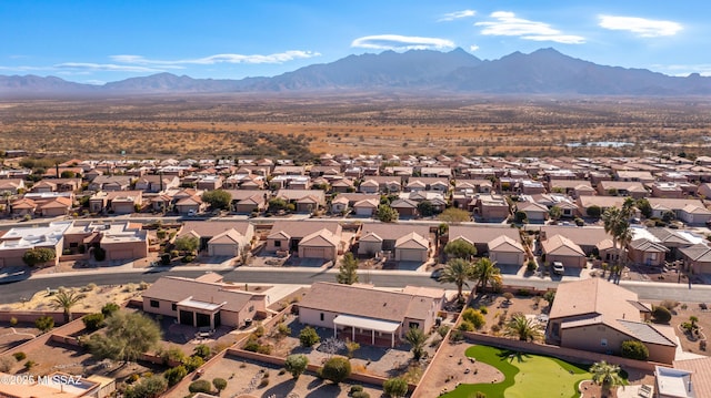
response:
{"label": "long thin white cloud streak low in the sky, left of the peaks", "polygon": [[293,61],[297,59],[307,59],[313,57],[320,57],[321,54],[312,51],[286,51],[274,54],[252,54],[252,55],[243,55],[243,54],[216,54],[204,58],[196,58],[196,59],[184,59],[184,60],[149,60],[141,55],[111,55],[111,59],[116,62],[121,63],[132,63],[139,65],[162,65],[163,68],[169,65],[179,65],[179,64],[200,64],[200,65],[211,65],[216,63],[283,63],[288,61]]}

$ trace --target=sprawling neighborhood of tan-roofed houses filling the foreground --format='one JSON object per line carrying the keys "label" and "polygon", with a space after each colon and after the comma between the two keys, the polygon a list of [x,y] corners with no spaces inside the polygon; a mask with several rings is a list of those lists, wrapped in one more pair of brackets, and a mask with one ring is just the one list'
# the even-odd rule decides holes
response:
{"label": "sprawling neighborhood of tan-roofed houses filling the foreground", "polygon": [[[164,375],[168,397],[194,392],[194,382],[203,379],[227,379],[233,396],[268,396],[259,391],[269,388],[269,379],[248,386],[226,377],[224,369],[262,375],[293,355],[326,366],[323,349],[343,354],[349,345],[363,353],[348,351],[358,369],[348,382],[357,389],[382,394],[394,377],[411,396],[448,396],[467,380],[477,385],[488,377],[482,370],[471,378],[470,368],[459,376],[430,370],[451,367],[448,358],[454,356],[459,365],[473,364],[457,351],[468,343],[573,364],[604,358],[632,375],[627,389],[640,395],[649,389],[650,397],[700,397],[711,388],[701,331],[711,327],[707,304],[660,302],[628,288],[711,284],[708,164],[679,156],[321,155],[312,164],[72,159],[36,175],[21,163],[6,160],[7,178],[0,180],[0,278],[14,284],[21,283],[18,275],[51,280],[119,269],[157,275],[114,304],[162,330],[137,364],[153,364],[143,374]],[[253,284],[221,274],[241,268],[333,277]],[[179,269],[203,274],[170,275]],[[373,273],[429,282],[375,286],[369,282]],[[58,294],[80,290],[38,293],[49,300]],[[151,377],[140,371],[112,377],[88,365],[112,358],[91,343],[101,339],[92,336],[102,336],[102,328],[109,333],[111,315],[99,331],[86,320],[101,308],[77,306],[73,320],[62,312],[51,315],[56,307],[47,305],[21,313],[8,308],[0,310],[8,328],[30,330],[47,314],[57,327],[6,344],[0,357],[24,355],[42,363],[33,353],[64,347],[84,358],[81,366],[42,368],[59,375],[81,368],[84,385],[67,397],[130,395]],[[664,310],[669,318],[660,314]],[[685,322],[682,314],[695,320]],[[531,335],[511,339],[517,322]],[[322,348],[304,351],[302,335],[310,333],[313,346]],[[196,365],[186,358],[194,358],[199,346],[212,353]],[[630,346],[644,354],[630,354]],[[173,348],[184,358],[160,359]],[[28,366],[8,364],[3,375],[18,374],[22,364]],[[182,376],[169,376],[173,373]],[[692,386],[688,395],[664,392],[679,380]],[[32,388],[40,387],[51,386]],[[7,386],[0,394],[21,396]]]}

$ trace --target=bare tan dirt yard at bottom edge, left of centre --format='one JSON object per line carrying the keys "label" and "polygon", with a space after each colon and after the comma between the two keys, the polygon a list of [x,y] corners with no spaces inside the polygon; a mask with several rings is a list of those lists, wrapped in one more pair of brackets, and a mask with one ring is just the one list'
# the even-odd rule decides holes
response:
{"label": "bare tan dirt yard at bottom edge, left of centre", "polygon": [[[264,375],[268,375],[264,377]],[[293,380],[290,374],[282,373],[280,368],[257,364],[238,357],[227,356],[212,365],[202,376],[204,380],[220,377],[227,380],[227,389],[222,397],[239,397],[248,395],[252,397],[348,397],[350,384],[343,382],[334,386],[324,382],[312,374],[306,373]],[[266,386],[259,387],[262,379],[267,379]],[[382,390],[364,385],[364,391],[371,397],[380,397]],[[188,388],[176,390],[167,395],[168,398],[182,398],[188,396]]]}

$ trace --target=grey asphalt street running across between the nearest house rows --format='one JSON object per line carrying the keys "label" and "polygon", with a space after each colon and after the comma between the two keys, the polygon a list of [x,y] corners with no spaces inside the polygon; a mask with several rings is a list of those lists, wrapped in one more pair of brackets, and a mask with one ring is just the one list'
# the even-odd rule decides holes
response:
{"label": "grey asphalt street running across between the nearest house rows", "polygon": [[[102,269],[98,272],[87,272],[86,274],[63,275],[58,274],[52,277],[28,278],[19,282],[0,285],[0,304],[19,302],[22,297],[31,297],[39,290],[49,288],[80,287],[90,283],[97,285],[124,285],[140,282],[152,283],[162,275],[174,275],[183,277],[197,277],[204,274],[201,269],[171,269],[164,272],[118,272]],[[229,271],[218,271],[224,276],[226,282],[234,283],[263,283],[263,284],[297,284],[310,285],[314,282],[334,282],[336,269],[309,269],[309,268],[237,268]],[[429,274],[415,274],[411,272],[361,272],[361,283],[373,283],[380,287],[403,287],[405,285],[431,286],[455,288],[454,285],[442,285],[429,277]],[[564,280],[563,280],[564,282]],[[2,280],[0,280],[2,283]],[[535,287],[545,289],[555,287],[559,282],[539,278],[521,278],[504,275],[504,283],[508,285]],[[679,302],[708,303],[711,302],[711,286],[687,284],[669,284],[653,282],[622,282],[621,286],[635,292],[640,299],[662,300],[674,299]]]}

